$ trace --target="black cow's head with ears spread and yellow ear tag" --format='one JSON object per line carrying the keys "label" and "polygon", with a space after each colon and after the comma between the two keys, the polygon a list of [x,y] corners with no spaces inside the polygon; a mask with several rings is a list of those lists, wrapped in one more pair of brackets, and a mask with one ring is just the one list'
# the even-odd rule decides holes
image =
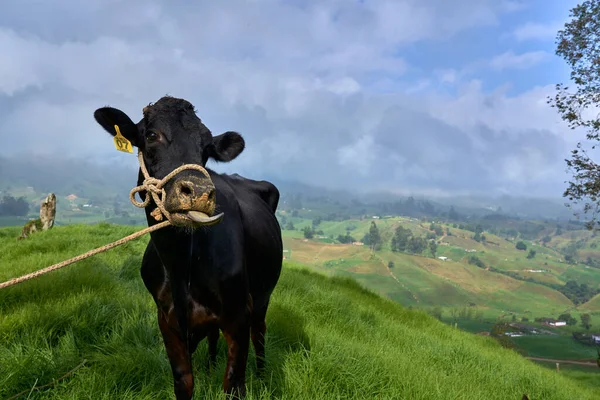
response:
{"label": "black cow's head with ears spread and yellow ear tag", "polygon": [[[162,179],[183,164],[205,166],[209,158],[228,162],[244,150],[244,139],[236,132],[213,136],[186,100],[163,97],[144,107],[143,114],[136,124],[121,110],[103,107],[94,112],[94,118],[113,136],[117,125],[142,151],[148,173],[154,178]],[[175,225],[196,227],[218,222],[213,217],[214,184],[200,171],[183,170],[164,189],[165,209]]]}

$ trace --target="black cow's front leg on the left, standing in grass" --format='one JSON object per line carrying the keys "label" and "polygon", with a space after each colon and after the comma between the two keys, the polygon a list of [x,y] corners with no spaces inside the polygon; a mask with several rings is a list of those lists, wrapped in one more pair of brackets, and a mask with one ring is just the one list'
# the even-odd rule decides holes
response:
{"label": "black cow's front leg on the left, standing in grass", "polygon": [[194,392],[192,357],[184,338],[181,337],[177,320],[174,316],[167,318],[167,315],[159,309],[158,326],[171,363],[175,398],[177,400],[190,400]]}

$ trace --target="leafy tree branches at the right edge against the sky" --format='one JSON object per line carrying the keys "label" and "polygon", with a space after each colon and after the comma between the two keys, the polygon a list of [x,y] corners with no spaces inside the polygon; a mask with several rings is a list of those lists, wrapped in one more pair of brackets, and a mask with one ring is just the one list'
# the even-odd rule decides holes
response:
{"label": "leafy tree branches at the right edge against the sky", "polygon": [[[570,10],[570,21],[558,31],[556,54],[571,68],[575,91],[563,83],[556,85],[556,94],[548,103],[558,110],[571,129],[583,129],[595,149],[600,141],[600,115],[595,111],[600,103],[600,0],[585,0]],[[573,173],[563,197],[573,204],[583,203],[583,212],[591,213],[588,229],[600,226],[600,165],[593,161],[582,145],[571,151],[565,160]]]}

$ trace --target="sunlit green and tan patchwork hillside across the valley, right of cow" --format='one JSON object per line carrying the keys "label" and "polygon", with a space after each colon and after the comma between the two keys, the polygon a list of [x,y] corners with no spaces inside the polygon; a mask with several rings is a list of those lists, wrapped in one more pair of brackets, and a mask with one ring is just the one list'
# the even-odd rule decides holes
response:
{"label": "sunlit green and tan patchwork hillside across the valley, right of cow", "polygon": [[[372,255],[366,246],[303,239],[300,230],[310,226],[311,221],[290,216],[287,220],[296,228],[283,231],[288,258],[329,274],[352,276],[404,305],[463,307],[470,304],[494,317],[508,313],[528,318],[557,317],[567,310],[575,314],[578,311],[572,300],[550,285],[562,286],[575,280],[600,287],[600,269],[567,264],[556,249],[535,241],[525,241],[527,250],[536,251],[535,257],[527,258],[528,251],[517,250],[515,241],[485,232],[486,242],[477,242],[473,232],[444,225],[444,235],[436,238],[436,258],[430,250],[420,255],[394,253],[389,243],[396,227],[403,226],[418,236],[429,232],[428,222],[394,217],[376,220],[384,244],[382,250]],[[323,231],[319,236],[335,238],[349,231],[353,238],[360,240],[368,232],[371,221],[324,221],[316,229]],[[451,235],[446,234],[447,230]],[[442,261],[439,256],[448,260]],[[490,268],[470,263],[471,257],[477,257]],[[393,269],[387,268],[390,261],[394,262]],[[581,309],[600,311],[600,307],[593,305]]]}

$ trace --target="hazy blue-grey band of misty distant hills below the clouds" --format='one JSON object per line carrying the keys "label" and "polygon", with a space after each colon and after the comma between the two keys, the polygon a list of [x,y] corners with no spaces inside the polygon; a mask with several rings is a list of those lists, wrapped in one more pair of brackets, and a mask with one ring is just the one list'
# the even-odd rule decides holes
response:
{"label": "hazy blue-grey band of misty distant hills below the clouds", "polygon": [[[217,171],[220,170],[218,165],[210,166]],[[33,154],[0,156],[0,191],[3,194],[11,194],[15,189],[32,187],[38,194],[47,192],[54,192],[58,196],[76,194],[78,197],[92,199],[97,203],[115,199],[127,201],[129,191],[136,184],[137,168],[135,157],[90,160]],[[436,195],[416,191],[399,194],[398,188],[358,192],[354,188],[330,189],[297,180],[285,180],[275,177],[274,174],[248,177],[266,179],[276,184],[281,192],[282,204],[293,197],[311,201],[371,205],[394,203],[413,197],[415,201],[426,201],[434,209],[444,212],[453,206],[460,213],[474,216],[501,213],[527,219],[574,219],[574,209],[565,206],[562,193],[557,193],[555,198],[543,198],[484,196],[478,193]]]}

